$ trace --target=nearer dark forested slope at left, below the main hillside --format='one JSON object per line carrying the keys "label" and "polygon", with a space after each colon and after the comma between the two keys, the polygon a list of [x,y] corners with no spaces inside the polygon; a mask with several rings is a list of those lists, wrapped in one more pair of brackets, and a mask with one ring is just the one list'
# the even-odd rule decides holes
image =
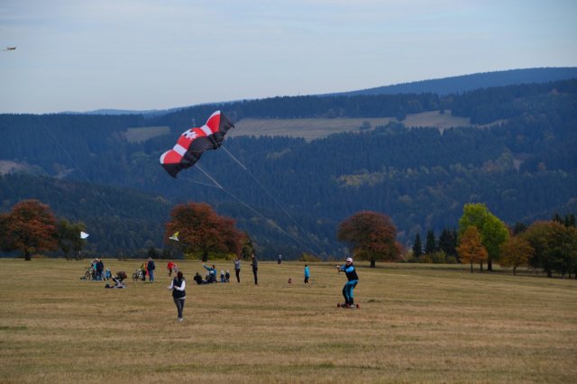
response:
{"label": "nearer dark forested slope at left, below the main hillside", "polygon": [[25,173],[0,175],[0,190],[1,212],[33,198],[48,204],[58,219],[86,224],[87,254],[143,256],[161,246],[172,208],[165,198],[131,189]]}

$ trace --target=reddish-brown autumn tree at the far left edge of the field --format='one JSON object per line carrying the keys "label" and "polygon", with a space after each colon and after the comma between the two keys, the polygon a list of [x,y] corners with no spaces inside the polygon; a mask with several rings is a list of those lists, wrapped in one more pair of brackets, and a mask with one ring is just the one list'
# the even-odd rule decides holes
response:
{"label": "reddish-brown autumn tree at the far left edge of the field", "polygon": [[22,251],[32,260],[34,251],[56,251],[56,217],[50,207],[38,200],[23,200],[1,220],[5,226],[6,251]]}

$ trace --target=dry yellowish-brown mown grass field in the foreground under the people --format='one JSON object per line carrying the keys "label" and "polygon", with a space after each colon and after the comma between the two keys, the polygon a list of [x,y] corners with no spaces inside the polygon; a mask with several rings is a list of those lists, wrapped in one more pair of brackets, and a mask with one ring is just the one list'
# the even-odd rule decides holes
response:
{"label": "dry yellowish-brown mown grass field in the foreground under the people", "polygon": [[[328,263],[248,264],[242,282],[194,285],[177,321],[157,282],[105,289],[88,261],[0,260],[1,382],[573,382],[577,281],[467,266],[358,266],[360,309],[336,308]],[[233,270],[231,261],[215,263]],[[105,260],[132,274],[139,261]],[[204,273],[203,273],[204,274]],[[291,277],[293,283],[289,284]]]}

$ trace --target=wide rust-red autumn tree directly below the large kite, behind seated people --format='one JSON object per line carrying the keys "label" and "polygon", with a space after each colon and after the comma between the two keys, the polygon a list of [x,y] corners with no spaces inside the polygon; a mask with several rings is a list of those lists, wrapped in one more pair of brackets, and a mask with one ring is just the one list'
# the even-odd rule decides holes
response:
{"label": "wide rust-red autumn tree directly below the large kite, behind seated people", "polygon": [[211,252],[238,255],[241,251],[243,233],[235,228],[234,220],[216,215],[205,203],[175,206],[170,217],[164,240],[169,243],[169,236],[179,232],[179,244],[185,253],[200,252],[202,261],[207,261]]}

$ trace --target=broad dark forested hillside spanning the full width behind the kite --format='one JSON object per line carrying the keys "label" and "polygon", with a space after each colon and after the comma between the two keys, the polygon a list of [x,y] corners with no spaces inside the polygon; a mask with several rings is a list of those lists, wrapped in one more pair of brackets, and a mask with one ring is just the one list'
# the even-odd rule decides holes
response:
{"label": "broad dark forested hillside spanning the full width behind the kite", "polygon": [[[204,123],[215,109],[234,121],[270,117],[393,117],[382,126],[360,126],[306,142],[289,137],[229,137],[224,149],[207,151],[199,169],[170,178],[159,156],[194,119]],[[482,126],[407,129],[407,114],[454,114]],[[122,245],[98,248],[110,254],[133,244],[138,251],[160,242],[169,206],[206,201],[237,220],[264,258],[281,252],[339,254],[337,224],[359,210],[390,215],[399,240],[410,243],[428,229],[453,228],[469,202],[486,204],[508,224],[575,212],[577,202],[577,80],[494,87],[463,95],[298,96],[199,105],[162,116],[0,115],[0,169],[77,180],[69,184],[87,205],[82,218],[97,231],[126,233]],[[209,175],[211,178],[208,178]],[[59,203],[62,187],[46,178],[11,192],[0,180],[5,211],[18,197],[38,196],[58,215],[79,213]],[[66,184],[65,184],[66,186]],[[98,186],[115,187],[103,194]],[[126,189],[119,189],[126,188]],[[13,187],[14,189],[14,187]],[[134,190],[140,211],[125,197]],[[18,192],[20,191],[20,192]],[[120,195],[126,194],[125,197]],[[114,195],[118,195],[115,198]],[[103,199],[104,196],[104,199]],[[130,198],[129,198],[130,199]],[[160,206],[155,206],[158,201]],[[166,203],[169,201],[169,203]],[[110,208],[108,207],[110,206]],[[151,214],[142,213],[151,207]],[[67,208],[67,209],[65,209]],[[110,210],[118,222],[98,222]],[[70,217],[76,219],[81,215]],[[139,225],[134,225],[134,221]],[[142,237],[137,227],[152,228]],[[114,237],[116,239],[116,237]],[[125,239],[131,239],[126,241]]]}

